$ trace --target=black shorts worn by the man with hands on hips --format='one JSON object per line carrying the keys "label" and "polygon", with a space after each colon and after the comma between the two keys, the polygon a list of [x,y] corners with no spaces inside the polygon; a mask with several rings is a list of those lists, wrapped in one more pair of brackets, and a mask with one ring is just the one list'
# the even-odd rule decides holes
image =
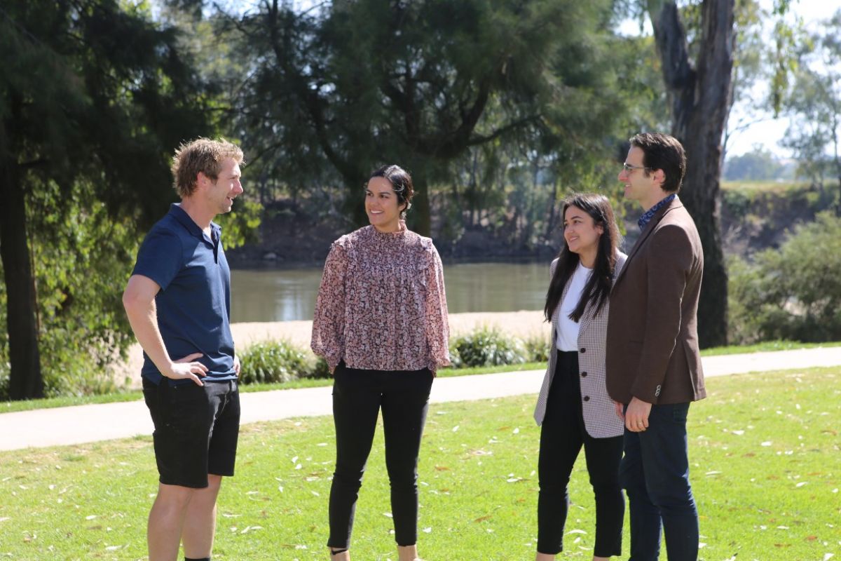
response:
{"label": "black shorts worn by the man with hands on hips", "polygon": [[143,398],[155,424],[155,459],[160,481],[196,489],[208,486],[208,474],[234,474],[240,434],[240,393],[236,380],[204,386],[160,385],[143,379]]}

